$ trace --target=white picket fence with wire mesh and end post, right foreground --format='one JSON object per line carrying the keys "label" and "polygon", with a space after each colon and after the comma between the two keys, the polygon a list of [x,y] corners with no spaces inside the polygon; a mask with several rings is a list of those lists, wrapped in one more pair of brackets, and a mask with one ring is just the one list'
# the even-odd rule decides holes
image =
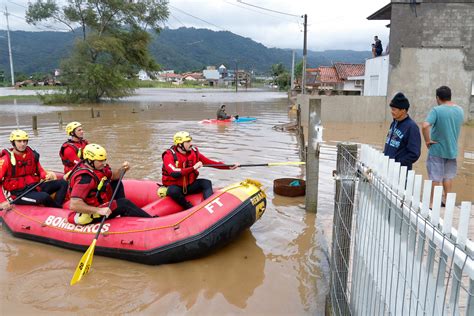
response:
{"label": "white picket fence with wire mesh and end post, right foreground", "polygon": [[[329,302],[334,315],[474,315],[472,203],[367,145],[339,144]],[[452,227],[453,213],[459,226]]]}

